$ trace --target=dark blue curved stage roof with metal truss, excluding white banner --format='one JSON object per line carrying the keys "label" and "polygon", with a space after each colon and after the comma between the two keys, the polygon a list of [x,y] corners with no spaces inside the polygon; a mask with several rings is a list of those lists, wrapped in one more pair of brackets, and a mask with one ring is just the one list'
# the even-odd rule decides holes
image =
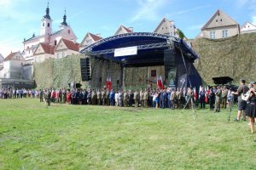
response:
{"label": "dark blue curved stage roof with metal truss, excluding white banner", "polygon": [[[115,49],[136,47],[137,54],[114,56]],[[197,54],[186,42],[177,37],[152,32],[132,32],[104,38],[81,50],[80,53],[109,59],[125,66],[164,65],[165,49],[175,48],[176,53],[194,62]]]}

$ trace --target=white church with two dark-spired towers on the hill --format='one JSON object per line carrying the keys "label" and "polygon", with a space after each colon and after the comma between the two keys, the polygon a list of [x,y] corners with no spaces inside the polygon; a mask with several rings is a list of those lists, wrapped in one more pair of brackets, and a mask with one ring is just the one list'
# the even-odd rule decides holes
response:
{"label": "white church with two dark-spired towers on the hill", "polygon": [[[38,60],[35,59],[38,55],[34,55],[34,53],[38,49],[38,46],[47,46],[48,48],[55,48],[57,44],[61,41],[61,39],[65,39],[78,46],[78,44],[76,43],[77,37],[75,36],[72,28],[67,25],[66,10],[63,16],[63,21],[59,26],[59,30],[55,32],[52,31],[53,20],[49,16],[49,3],[47,5],[45,12],[46,13],[43,16],[43,19],[41,20],[40,35],[35,36],[35,34],[33,34],[32,37],[24,39],[24,50],[22,52],[22,56],[26,60],[26,64],[32,64],[33,62]],[[49,58],[55,58],[55,55],[43,53],[43,55],[40,55],[39,60],[42,61]]]}

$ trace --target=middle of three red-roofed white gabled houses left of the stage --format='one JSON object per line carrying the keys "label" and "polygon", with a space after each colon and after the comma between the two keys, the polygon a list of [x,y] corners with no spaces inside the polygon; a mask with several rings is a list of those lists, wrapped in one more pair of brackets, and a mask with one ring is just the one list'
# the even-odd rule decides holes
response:
{"label": "middle of three red-roofed white gabled houses left of the stage", "polygon": [[72,54],[79,54],[79,43],[61,38],[55,47],[55,59],[62,59]]}

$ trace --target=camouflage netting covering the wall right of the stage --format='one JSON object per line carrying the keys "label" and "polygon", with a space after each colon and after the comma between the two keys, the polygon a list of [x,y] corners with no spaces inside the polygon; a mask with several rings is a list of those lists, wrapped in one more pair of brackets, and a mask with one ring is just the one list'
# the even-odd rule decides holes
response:
{"label": "camouflage netting covering the wall right of the stage", "polygon": [[192,42],[199,59],[195,68],[202,79],[212,84],[212,77],[232,77],[256,81],[256,33],[242,34],[219,40],[195,39]]}

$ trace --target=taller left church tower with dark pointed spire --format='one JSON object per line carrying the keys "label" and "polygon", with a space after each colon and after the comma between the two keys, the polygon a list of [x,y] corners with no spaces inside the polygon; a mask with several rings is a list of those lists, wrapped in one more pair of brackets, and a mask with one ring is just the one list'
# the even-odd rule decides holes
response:
{"label": "taller left church tower with dark pointed spire", "polygon": [[43,19],[41,20],[41,36],[49,36],[52,33],[51,29],[52,20],[49,16],[49,3],[47,4],[46,14],[44,15]]}

